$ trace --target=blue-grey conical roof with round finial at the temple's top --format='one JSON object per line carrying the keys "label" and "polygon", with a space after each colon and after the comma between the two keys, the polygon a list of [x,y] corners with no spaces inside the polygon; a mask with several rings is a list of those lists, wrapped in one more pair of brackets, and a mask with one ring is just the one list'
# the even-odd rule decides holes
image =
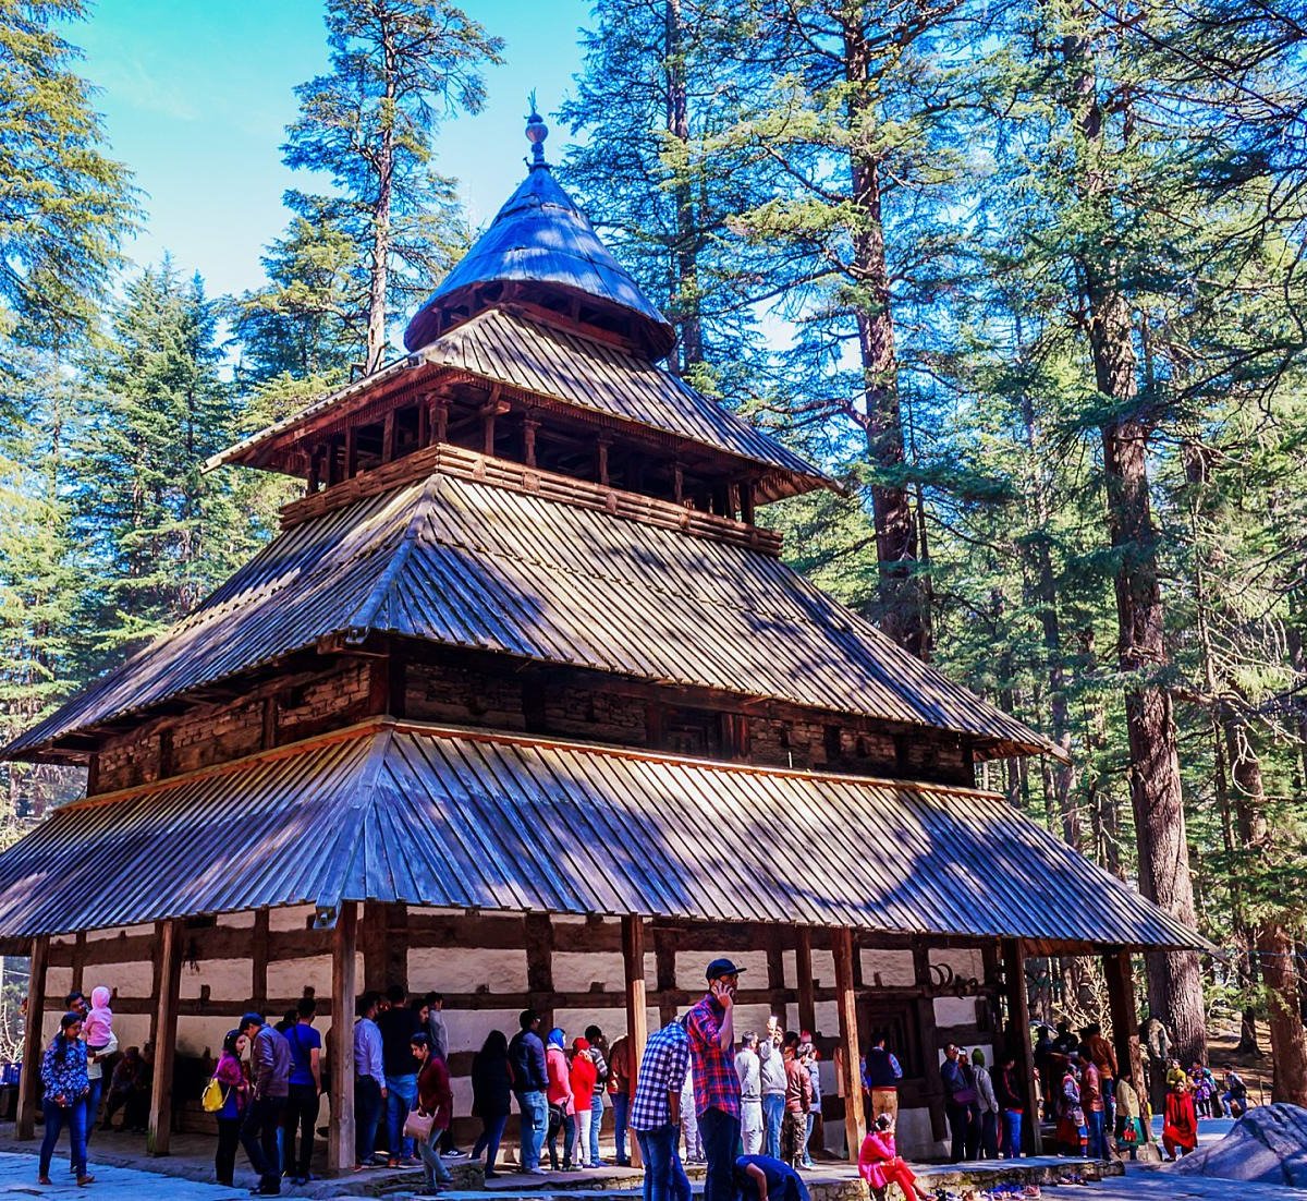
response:
{"label": "blue-grey conical roof with round finial at the temple's top", "polygon": [[452,326],[502,301],[502,285],[525,285],[516,290],[525,290],[527,298],[562,314],[579,300],[637,349],[661,358],[676,341],[672,326],[554,179],[544,158],[545,126],[535,114],[527,136],[535,147],[527,178],[409,322],[404,345],[420,351]]}

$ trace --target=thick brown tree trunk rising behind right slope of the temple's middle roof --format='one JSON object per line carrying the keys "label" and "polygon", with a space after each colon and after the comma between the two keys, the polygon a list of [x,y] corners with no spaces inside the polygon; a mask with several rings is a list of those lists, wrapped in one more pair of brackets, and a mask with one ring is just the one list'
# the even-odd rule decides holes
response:
{"label": "thick brown tree trunk rising behind right slope of the temple's middle roof", "polygon": [[[844,72],[851,86],[850,127],[861,128],[872,118],[874,99],[868,96],[873,50],[861,25],[860,7],[851,7],[843,21]],[[855,148],[850,154],[852,208],[855,212],[850,264],[857,288],[857,345],[863,366],[864,409],[861,424],[870,463],[882,474],[872,485],[872,515],[876,525],[876,559],[880,565],[881,629],[921,659],[932,649],[929,580],[918,560],[916,521],[908,489],[893,479],[907,454],[898,392],[898,361],[894,349],[894,318],[890,313],[890,280],[885,259],[885,226],[881,215],[881,164]]]}

